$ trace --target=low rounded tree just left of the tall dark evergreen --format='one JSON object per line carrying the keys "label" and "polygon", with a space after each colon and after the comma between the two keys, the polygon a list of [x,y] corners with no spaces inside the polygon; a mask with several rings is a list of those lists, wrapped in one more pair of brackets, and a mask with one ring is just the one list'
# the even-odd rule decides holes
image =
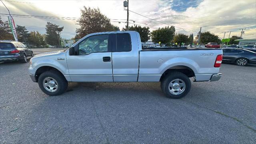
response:
{"label": "low rounded tree just left of the tall dark evergreen", "polygon": [[38,31],[30,32],[28,41],[31,45],[37,46],[37,47],[40,47],[41,45],[42,46],[46,45],[44,37]]}

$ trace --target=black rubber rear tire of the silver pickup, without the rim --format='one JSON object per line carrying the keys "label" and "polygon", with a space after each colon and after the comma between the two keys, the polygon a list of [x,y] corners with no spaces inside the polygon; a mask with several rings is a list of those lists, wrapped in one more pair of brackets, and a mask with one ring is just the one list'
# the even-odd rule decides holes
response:
{"label": "black rubber rear tire of the silver pickup, without the rim", "polygon": [[[184,88],[184,90],[180,93],[180,94],[172,94],[169,91],[169,84],[170,82],[172,82],[173,80],[181,80],[178,82],[181,82],[182,84],[185,84],[185,88],[184,87],[180,87],[181,89]],[[182,82],[183,81],[183,82]],[[185,74],[181,73],[181,72],[171,72],[170,74],[168,74],[167,76],[164,77],[164,79],[161,82],[161,88],[162,91],[164,92],[164,94],[166,94],[166,96],[168,98],[182,98],[184,96],[186,96],[186,94],[188,94],[188,92],[190,91],[191,88],[191,82],[190,79],[188,78],[188,76],[186,76]]]}

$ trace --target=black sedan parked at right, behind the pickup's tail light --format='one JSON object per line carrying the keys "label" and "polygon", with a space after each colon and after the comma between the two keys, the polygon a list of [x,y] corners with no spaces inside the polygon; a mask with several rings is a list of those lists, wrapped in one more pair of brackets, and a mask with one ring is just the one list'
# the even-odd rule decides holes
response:
{"label": "black sedan parked at right, behind the pickup's tail light", "polygon": [[222,48],[222,62],[235,63],[238,66],[256,64],[256,52],[240,48]]}

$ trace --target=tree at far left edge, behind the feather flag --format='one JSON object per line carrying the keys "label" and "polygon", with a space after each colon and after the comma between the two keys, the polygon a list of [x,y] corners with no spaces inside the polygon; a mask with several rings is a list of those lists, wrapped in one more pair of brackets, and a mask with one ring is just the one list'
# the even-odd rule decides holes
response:
{"label": "tree at far left edge, behind the feather flag", "polygon": [[0,16],[0,40],[14,40],[8,21],[2,21]]}

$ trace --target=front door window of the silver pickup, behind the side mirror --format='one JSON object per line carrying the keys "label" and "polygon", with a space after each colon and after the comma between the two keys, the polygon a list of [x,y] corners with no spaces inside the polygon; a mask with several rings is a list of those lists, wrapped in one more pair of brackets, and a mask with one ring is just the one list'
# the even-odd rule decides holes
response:
{"label": "front door window of the silver pickup, behind the side mirror", "polygon": [[108,34],[90,36],[78,44],[78,54],[108,52]]}

